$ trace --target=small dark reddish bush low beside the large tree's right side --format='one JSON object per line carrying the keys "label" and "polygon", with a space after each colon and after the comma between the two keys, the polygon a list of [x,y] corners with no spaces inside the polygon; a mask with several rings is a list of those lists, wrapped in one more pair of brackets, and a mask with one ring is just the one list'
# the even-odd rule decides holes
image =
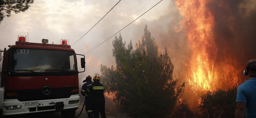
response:
{"label": "small dark reddish bush low beside the large tree's right side", "polygon": [[194,113],[189,109],[186,101],[178,101],[178,105],[175,107],[172,118],[194,118]]}

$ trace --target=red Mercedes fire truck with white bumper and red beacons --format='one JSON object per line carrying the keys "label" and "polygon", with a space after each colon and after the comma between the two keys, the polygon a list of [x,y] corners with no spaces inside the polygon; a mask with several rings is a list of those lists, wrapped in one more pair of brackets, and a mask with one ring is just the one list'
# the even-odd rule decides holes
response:
{"label": "red Mercedes fire truck with white bumper and red beacons", "polygon": [[[42,43],[30,43],[26,36],[18,36],[15,45],[4,48],[0,117],[50,111],[61,111],[62,118],[75,116],[80,102],[79,54],[68,40],[60,42],[47,44],[48,40],[43,39]],[[81,68],[85,70],[84,58]]]}

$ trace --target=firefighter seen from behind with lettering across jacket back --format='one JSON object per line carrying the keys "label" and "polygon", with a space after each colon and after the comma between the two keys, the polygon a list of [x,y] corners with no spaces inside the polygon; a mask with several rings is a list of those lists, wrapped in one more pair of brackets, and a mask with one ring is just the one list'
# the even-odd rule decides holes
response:
{"label": "firefighter seen from behind with lettering across jacket back", "polygon": [[87,93],[92,93],[92,110],[94,118],[106,118],[105,113],[105,97],[104,97],[104,86],[100,84],[100,77],[93,77],[93,84],[87,89]]}

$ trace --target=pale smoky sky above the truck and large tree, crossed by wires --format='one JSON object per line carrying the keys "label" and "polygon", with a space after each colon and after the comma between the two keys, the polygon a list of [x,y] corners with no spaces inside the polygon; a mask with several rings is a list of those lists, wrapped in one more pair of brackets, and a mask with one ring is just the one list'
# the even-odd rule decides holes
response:
{"label": "pale smoky sky above the truck and large tree, crossed by wires", "polygon": [[[28,36],[29,42],[41,43],[48,39],[49,43],[60,44],[61,39],[68,39],[69,45],[80,39],[100,18],[102,18],[119,0],[35,0],[34,4],[18,14],[12,12],[0,24],[0,49],[14,45],[18,35]],[[159,0],[160,1],[160,0]],[[76,54],[85,54],[110,36],[138,18],[159,1],[156,0],[121,0],[89,33],[74,44]],[[159,51],[164,47],[175,65],[180,65],[188,54],[184,41],[184,31],[175,32],[182,17],[174,1],[163,0],[153,9],[121,31],[123,41],[135,44],[143,36],[144,26],[148,25],[151,36],[156,38]],[[119,34],[119,33],[118,33]],[[112,56],[114,37],[85,55],[86,69],[82,74],[93,76],[100,73],[100,64],[110,67],[115,64]],[[182,43],[180,43],[182,42]],[[180,48],[183,47],[183,48]],[[184,55],[175,55],[184,53]],[[175,56],[174,56],[175,55]],[[78,67],[80,67],[78,65]],[[82,69],[80,69],[82,70]],[[177,70],[174,70],[174,72]],[[84,78],[80,78],[83,81]]]}

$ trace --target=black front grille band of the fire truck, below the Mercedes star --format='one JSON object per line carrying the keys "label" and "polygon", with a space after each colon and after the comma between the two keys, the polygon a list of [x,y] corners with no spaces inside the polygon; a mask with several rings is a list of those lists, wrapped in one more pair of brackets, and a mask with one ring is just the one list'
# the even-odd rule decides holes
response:
{"label": "black front grille band of the fire truck, below the Mercedes star", "polygon": [[52,88],[51,93],[47,95],[45,95],[42,92],[42,89],[18,90],[15,91],[18,94],[17,97],[5,97],[5,99],[18,99],[19,101],[34,101],[69,98],[71,95],[78,94],[78,92],[71,92],[72,89],[78,89],[78,87]]}

